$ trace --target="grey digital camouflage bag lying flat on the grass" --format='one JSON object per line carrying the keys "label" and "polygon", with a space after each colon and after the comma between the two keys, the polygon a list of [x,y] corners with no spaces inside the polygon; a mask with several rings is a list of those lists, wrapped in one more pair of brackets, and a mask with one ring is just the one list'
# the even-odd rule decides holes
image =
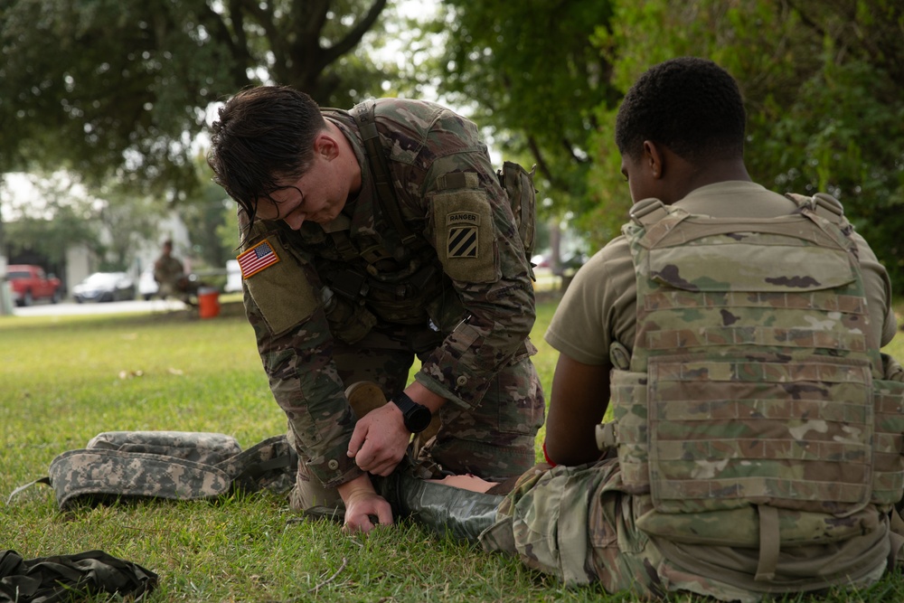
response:
{"label": "grey digital camouflage bag lying flat on the grass", "polygon": [[49,475],[21,486],[51,485],[61,509],[131,496],[174,500],[216,498],[236,490],[287,492],[295,482],[297,456],[286,436],[242,451],[221,433],[108,431],[86,448],[53,459]]}

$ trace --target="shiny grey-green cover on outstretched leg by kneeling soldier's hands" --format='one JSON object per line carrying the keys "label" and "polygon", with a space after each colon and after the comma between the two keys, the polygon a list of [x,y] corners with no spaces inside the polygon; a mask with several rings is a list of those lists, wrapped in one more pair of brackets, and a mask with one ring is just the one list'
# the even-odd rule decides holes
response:
{"label": "shiny grey-green cover on outstretched leg by kneeling soldier's hands", "polygon": [[439,535],[477,542],[477,537],[496,521],[496,506],[504,496],[486,495],[464,488],[438,484],[397,470],[384,478],[380,494],[402,517],[410,516]]}

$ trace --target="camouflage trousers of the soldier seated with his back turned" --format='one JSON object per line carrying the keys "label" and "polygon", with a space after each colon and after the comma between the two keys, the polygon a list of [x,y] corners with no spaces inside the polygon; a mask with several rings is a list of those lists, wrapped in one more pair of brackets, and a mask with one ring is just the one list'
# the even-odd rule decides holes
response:
{"label": "camouflage trousers of the soldier seated with his back turned", "polygon": [[[794,583],[745,589],[736,580],[729,583],[683,570],[636,526],[635,518],[644,513],[649,504],[644,498],[649,497],[623,490],[615,458],[583,466],[536,466],[521,476],[499,504],[496,523],[480,534],[480,542],[486,551],[513,554],[525,565],[557,576],[567,585],[599,582],[610,593],[631,593],[634,598],[662,598],[668,592],[683,591],[723,601],[757,603],[774,594],[805,590]],[[706,549],[710,547],[686,550],[694,555],[692,551],[703,553]],[[832,551],[832,545],[826,545],[826,550],[818,551],[821,558],[814,557],[808,560],[808,566],[799,566],[806,568],[803,576],[811,582],[806,590],[814,590],[812,582],[820,580],[820,570],[831,561]],[[716,557],[733,554],[727,547],[705,552],[705,556]],[[748,554],[755,569],[756,551]],[[798,556],[794,551],[788,554]],[[806,554],[805,549],[799,550],[799,556]],[[865,588],[879,580],[884,570],[884,560],[880,560],[856,577],[830,580],[826,576],[823,584],[826,589],[829,582],[837,589]],[[726,571],[725,578],[730,574]]]}

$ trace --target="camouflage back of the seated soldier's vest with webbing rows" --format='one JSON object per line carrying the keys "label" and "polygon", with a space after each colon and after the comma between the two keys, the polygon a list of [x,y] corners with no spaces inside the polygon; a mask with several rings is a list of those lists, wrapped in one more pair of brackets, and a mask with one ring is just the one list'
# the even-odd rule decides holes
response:
{"label": "camouflage back of the seated soldier's vest with webbing rows", "polygon": [[623,432],[618,419],[626,465],[639,469],[627,485],[648,485],[663,513],[862,509],[881,373],[852,242],[810,212],[662,216],[626,229],[638,273],[631,370],[647,376],[643,410],[624,406],[613,379],[618,415],[645,417],[640,440],[636,421]]}

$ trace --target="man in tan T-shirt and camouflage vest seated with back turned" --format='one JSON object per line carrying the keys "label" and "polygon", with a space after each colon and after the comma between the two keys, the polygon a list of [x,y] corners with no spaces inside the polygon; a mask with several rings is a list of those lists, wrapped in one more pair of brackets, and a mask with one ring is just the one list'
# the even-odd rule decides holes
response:
{"label": "man in tan T-shirt and camouflage vest seated with back turned", "polygon": [[631,221],[546,333],[550,463],[505,497],[397,475],[396,513],[639,598],[862,588],[904,561],[888,275],[832,197],[752,182],[744,137],[715,63],[636,81],[616,121]]}

